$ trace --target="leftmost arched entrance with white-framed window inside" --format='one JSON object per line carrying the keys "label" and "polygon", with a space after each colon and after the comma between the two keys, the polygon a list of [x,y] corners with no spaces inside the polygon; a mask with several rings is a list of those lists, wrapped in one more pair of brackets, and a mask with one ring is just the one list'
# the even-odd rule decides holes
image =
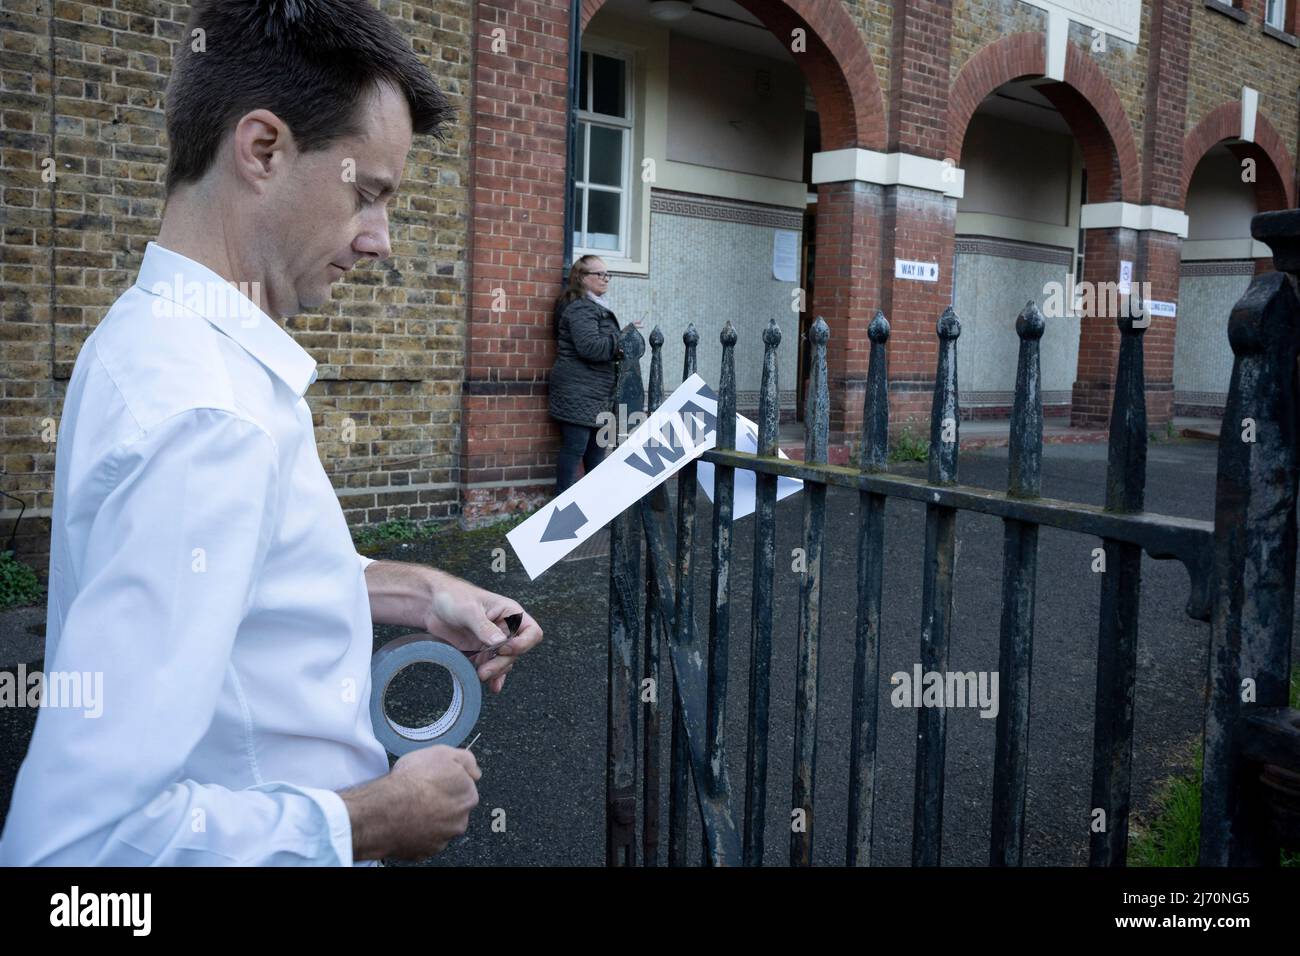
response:
{"label": "leftmost arched entrance with white-framed window inside", "polygon": [[[627,92],[603,98],[619,114],[592,109],[594,86],[580,92],[575,256],[599,252],[620,317],[645,319],[645,333],[662,328],[666,388],[680,381],[686,324],[701,333],[699,369],[711,378],[731,320],[741,411],[757,411],[760,334],[775,317],[784,334],[781,418],[793,423],[801,333],[822,316],[832,325],[837,418],[841,427],[861,420],[835,386],[866,364],[878,276],[854,259],[875,224],[854,183],[810,186],[815,152],[884,144],[884,100],[858,26],[840,4],[809,0],[718,3],[667,23],[644,0],[604,0],[584,7],[582,25],[584,82],[603,72]],[[593,183],[593,135],[608,156],[619,152],[627,185],[620,234],[598,237],[612,263],[580,232],[592,196],[612,206],[603,194],[619,178],[598,172],[606,181]],[[644,362],[649,368],[649,355]]]}

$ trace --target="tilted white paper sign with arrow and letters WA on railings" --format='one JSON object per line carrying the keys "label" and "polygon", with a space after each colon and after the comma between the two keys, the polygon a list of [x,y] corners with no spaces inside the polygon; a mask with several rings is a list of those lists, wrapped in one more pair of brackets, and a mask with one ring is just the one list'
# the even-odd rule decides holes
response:
{"label": "tilted white paper sign with arrow and letters WA on railings", "polygon": [[551,564],[718,444],[718,395],[693,375],[582,480],[506,535],[536,580]]}

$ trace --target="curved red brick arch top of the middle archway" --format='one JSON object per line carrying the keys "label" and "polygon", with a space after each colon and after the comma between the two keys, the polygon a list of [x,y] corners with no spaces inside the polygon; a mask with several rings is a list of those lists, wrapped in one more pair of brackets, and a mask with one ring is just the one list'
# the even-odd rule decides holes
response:
{"label": "curved red brick arch top of the middle archway", "polygon": [[[980,103],[1014,79],[1046,70],[1046,38],[1041,33],[1005,36],[972,56],[953,83],[948,150],[962,155],[966,129]],[[1070,126],[1088,170],[1089,202],[1138,202],[1138,140],[1119,95],[1093,60],[1072,43],[1066,47],[1065,81],[1039,87]]]}

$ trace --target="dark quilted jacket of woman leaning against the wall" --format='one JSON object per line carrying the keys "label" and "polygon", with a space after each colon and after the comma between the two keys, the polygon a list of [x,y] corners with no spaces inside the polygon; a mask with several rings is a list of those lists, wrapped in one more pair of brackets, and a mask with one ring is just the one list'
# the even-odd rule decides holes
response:
{"label": "dark quilted jacket of woman leaning against the wall", "polygon": [[614,399],[619,319],[590,298],[563,307],[551,369],[551,418],[595,428]]}

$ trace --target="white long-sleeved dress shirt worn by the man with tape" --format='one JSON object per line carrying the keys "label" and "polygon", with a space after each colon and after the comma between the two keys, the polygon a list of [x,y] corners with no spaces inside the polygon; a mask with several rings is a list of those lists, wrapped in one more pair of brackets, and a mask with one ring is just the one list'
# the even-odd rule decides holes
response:
{"label": "white long-sleeved dress shirt worn by the man with tape", "polygon": [[101,672],[101,714],[42,706],[0,864],[352,865],[335,791],[389,763],[315,380],[234,286],[148,245],[56,444],[46,684]]}

